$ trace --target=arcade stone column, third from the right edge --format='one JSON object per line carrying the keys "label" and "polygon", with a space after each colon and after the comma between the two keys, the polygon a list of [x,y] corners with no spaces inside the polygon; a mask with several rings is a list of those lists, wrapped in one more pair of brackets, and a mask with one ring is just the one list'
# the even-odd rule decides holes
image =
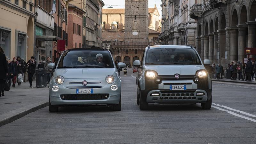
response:
{"label": "arcade stone column, third from the right edge", "polygon": [[237,60],[238,42],[237,42],[237,29],[230,28],[230,61]]}

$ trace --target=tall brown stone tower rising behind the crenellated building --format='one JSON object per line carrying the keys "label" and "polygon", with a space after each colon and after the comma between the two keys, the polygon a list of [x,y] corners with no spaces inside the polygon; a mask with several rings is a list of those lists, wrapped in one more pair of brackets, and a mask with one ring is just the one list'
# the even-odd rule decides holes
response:
{"label": "tall brown stone tower rising behind the crenellated building", "polygon": [[147,45],[148,0],[125,0],[124,25],[125,43],[133,46]]}

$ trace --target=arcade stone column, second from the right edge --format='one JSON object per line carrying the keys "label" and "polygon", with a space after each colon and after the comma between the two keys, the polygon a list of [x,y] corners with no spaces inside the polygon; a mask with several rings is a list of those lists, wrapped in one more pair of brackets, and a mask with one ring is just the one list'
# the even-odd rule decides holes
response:
{"label": "arcade stone column, second from the right edge", "polygon": [[244,63],[244,48],[245,48],[245,32],[247,25],[237,25],[238,27],[238,61]]}

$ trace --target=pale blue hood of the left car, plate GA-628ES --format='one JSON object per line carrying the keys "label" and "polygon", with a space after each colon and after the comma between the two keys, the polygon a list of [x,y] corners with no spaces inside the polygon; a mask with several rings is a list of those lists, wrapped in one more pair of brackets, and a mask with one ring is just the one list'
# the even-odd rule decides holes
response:
{"label": "pale blue hood of the left car, plate GA-628ES", "polygon": [[54,77],[63,78],[106,78],[107,76],[117,76],[115,68],[57,68]]}

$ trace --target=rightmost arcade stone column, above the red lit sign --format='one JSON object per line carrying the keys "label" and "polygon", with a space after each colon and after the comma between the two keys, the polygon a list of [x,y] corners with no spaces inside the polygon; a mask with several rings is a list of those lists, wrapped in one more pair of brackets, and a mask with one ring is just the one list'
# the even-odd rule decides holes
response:
{"label": "rightmost arcade stone column, above the red lit sign", "polygon": [[256,31],[256,22],[248,21],[246,22],[248,25],[248,46],[249,48],[255,47],[255,31]]}

